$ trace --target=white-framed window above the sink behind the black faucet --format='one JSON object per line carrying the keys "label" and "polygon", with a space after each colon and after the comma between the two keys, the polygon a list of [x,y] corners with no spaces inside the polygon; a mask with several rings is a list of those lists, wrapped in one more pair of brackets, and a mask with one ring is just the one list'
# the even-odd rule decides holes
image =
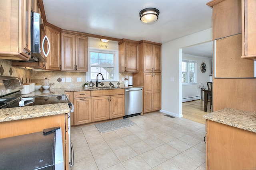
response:
{"label": "white-framed window above the sink behind the black faucet", "polygon": [[[118,81],[118,51],[88,48],[88,73],[86,80],[96,81],[101,73],[104,81]],[[101,80],[101,76],[98,77]]]}

